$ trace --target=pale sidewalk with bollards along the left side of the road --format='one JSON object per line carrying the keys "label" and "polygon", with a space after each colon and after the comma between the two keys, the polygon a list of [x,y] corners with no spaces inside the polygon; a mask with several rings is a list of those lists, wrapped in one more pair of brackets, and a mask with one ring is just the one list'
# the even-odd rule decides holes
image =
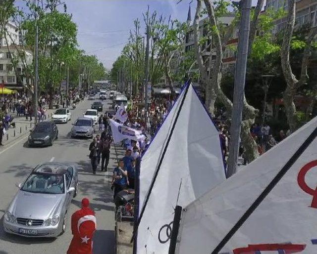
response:
{"label": "pale sidewalk with bollards along the left side of the road", "polygon": [[[47,105],[46,105],[47,106]],[[47,107],[48,108],[48,107]],[[47,110],[47,119],[46,121],[51,120],[52,113],[55,111],[55,109],[48,109]],[[12,115],[14,117],[13,123],[15,123],[15,128],[10,126],[6,132],[5,135],[2,137],[2,144],[3,146],[7,146],[11,142],[18,140],[19,138],[25,137],[27,134],[30,133],[30,129],[33,129],[34,124],[34,117],[32,118],[32,121],[26,121],[25,117],[17,117],[16,112],[9,112],[9,115]],[[30,119],[30,118],[29,118]]]}

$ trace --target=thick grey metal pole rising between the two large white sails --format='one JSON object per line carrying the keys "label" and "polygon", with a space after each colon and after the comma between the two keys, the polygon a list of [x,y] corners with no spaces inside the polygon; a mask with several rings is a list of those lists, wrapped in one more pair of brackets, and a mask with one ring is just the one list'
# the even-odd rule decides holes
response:
{"label": "thick grey metal pole rising between the two large white sails", "polygon": [[233,109],[231,117],[231,139],[227,177],[230,177],[237,171],[244,99],[244,86],[246,81],[248,60],[251,3],[251,0],[240,1],[240,4],[242,4],[242,10],[240,19],[238,54],[234,77]]}

